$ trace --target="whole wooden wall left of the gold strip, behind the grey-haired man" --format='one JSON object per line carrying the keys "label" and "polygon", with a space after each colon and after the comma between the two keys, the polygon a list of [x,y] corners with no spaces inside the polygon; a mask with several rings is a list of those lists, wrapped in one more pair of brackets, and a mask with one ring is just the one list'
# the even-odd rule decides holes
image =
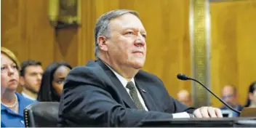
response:
{"label": "whole wooden wall left of the gold strip, behind the grey-haired man", "polygon": [[97,18],[111,9],[135,9],[148,32],[143,69],[159,76],[174,97],[179,89],[191,90],[189,81],[176,79],[177,73],[191,74],[188,0],[81,0],[81,26],[57,33],[49,25],[47,0],[1,2],[2,46],[20,60],[40,60],[44,67],[52,61],[65,60],[75,66],[95,59]]}

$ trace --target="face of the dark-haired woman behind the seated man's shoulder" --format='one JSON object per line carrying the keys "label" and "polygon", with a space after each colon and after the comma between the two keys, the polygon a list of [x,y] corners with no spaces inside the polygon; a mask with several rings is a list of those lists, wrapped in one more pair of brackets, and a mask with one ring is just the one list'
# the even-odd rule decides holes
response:
{"label": "face of the dark-haired woman behind the seated man's shoulder", "polygon": [[65,65],[62,65],[59,68],[57,68],[57,70],[53,74],[52,86],[59,96],[63,92],[65,77],[68,76],[69,71],[71,71],[70,68],[66,67]]}

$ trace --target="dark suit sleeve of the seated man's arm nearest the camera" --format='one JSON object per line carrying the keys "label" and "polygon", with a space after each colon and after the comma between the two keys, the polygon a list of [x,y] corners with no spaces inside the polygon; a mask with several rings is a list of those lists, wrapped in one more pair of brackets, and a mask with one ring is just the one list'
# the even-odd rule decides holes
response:
{"label": "dark suit sleeve of the seated man's arm nearest the camera", "polygon": [[124,108],[110,90],[85,84],[84,76],[73,73],[60,100],[59,127],[139,127],[144,119],[172,119],[170,113]]}

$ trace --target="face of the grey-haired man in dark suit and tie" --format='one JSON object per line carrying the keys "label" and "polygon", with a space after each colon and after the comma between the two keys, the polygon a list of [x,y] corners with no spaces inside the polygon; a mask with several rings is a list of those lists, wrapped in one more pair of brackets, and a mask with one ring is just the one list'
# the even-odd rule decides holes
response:
{"label": "face of the grey-haired man in dark suit and tie", "polygon": [[111,63],[143,68],[146,55],[145,28],[140,19],[132,14],[121,15],[110,22],[110,38],[106,40]]}

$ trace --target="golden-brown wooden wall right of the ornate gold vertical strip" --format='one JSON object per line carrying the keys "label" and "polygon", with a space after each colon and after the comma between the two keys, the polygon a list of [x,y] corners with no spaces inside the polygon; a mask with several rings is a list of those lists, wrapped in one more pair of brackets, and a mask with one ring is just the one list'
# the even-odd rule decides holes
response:
{"label": "golden-brown wooden wall right of the ornate gold vertical strip", "polygon": [[[244,105],[249,84],[256,81],[256,1],[212,2],[210,9],[212,90],[221,96],[223,86],[233,84]],[[215,97],[212,104],[222,105]]]}

